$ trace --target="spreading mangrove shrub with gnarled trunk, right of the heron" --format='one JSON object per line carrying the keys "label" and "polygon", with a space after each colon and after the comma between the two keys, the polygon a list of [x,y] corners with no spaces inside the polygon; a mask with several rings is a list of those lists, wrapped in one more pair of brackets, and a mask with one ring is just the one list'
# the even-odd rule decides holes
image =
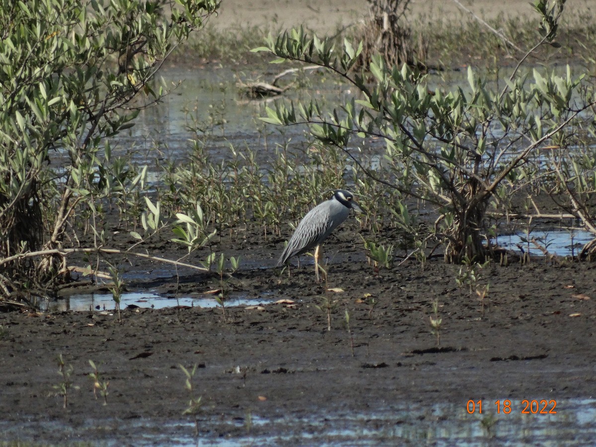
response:
{"label": "spreading mangrove shrub with gnarled trunk, right of the heron", "polygon": [[[538,44],[528,54],[542,44],[556,45],[563,5],[535,2],[541,28]],[[382,139],[384,164],[392,171],[387,187],[437,210],[435,235],[443,241],[448,262],[481,262],[494,254],[486,229],[488,210],[498,210],[526,185],[536,175],[529,171],[529,161],[579,122],[589,121],[585,112],[594,104],[584,91],[583,76],[572,76],[569,67],[562,74],[520,70],[527,55],[500,89],[469,68],[467,85],[449,91],[430,89],[427,75],[407,64],[390,66],[380,55],[373,57],[369,70],[354,70],[362,44],[346,39],[336,46],[303,29],[269,36],[266,46],[255,51],[272,52],[278,56],[275,62],[318,64],[352,86],[357,93],[332,111],[316,100],[278,101],[266,109],[263,120],[309,125],[322,144],[340,147],[352,157],[349,145]]]}

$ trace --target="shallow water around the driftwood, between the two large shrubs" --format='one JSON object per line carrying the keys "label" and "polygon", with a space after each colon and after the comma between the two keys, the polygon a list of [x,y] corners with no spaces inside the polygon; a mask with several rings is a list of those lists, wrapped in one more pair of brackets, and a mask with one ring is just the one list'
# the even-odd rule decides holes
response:
{"label": "shallow water around the driftwood, between the two large shrubs", "polygon": [[[267,148],[285,144],[288,139],[304,140],[304,126],[265,125],[260,117],[266,116],[265,105],[271,103],[243,97],[238,80],[250,82],[250,79],[262,77],[260,69],[235,73],[218,67],[170,68],[161,74],[163,83],[171,89],[170,94],[156,107],[142,110],[135,126],[113,139],[119,150],[133,151],[134,160],[139,164],[152,165],[156,157],[181,162],[192,147],[189,139],[197,136],[206,139],[215,164],[228,156],[230,147],[263,149],[263,158],[259,161],[266,162]],[[310,100],[316,97],[322,104],[336,104],[349,94],[345,86],[329,76],[315,73],[309,76],[309,82],[308,88],[290,89],[284,98]],[[114,148],[113,152],[117,153],[118,149]]]}

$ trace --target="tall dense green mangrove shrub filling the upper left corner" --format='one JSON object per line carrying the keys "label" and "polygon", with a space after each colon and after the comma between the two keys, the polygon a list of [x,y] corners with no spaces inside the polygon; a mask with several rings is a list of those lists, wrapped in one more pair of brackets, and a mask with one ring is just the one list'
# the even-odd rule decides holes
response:
{"label": "tall dense green mangrove shrub filling the upper left corner", "polygon": [[82,211],[97,215],[102,200],[143,181],[111,156],[109,138],[159,100],[151,79],[216,8],[217,0],[0,1],[3,295],[66,275],[60,249]]}

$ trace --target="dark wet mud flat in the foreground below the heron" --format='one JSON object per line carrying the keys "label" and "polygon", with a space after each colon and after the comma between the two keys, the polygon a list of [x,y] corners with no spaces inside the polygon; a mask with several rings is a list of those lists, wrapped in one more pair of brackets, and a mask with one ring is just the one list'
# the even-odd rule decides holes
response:
{"label": "dark wet mud flat in the foreground below the heron", "polygon": [[[238,272],[243,293],[266,290],[294,304],[229,307],[227,321],[219,308],[132,309],[123,311],[122,324],[113,312],[1,314],[0,440],[135,445],[165,442],[159,435],[171,432],[166,443],[176,443],[175,436],[191,436],[194,428],[182,415],[188,395],[179,364],[198,365],[199,439],[206,443],[248,434],[308,444],[301,424],[312,435],[312,420],[301,421],[316,415],[318,429],[329,431],[342,414],[361,415],[362,430],[384,433],[375,442],[406,442],[395,434],[405,416],[392,408],[407,413],[448,405],[443,417],[458,412],[480,427],[479,415],[465,413],[470,399],[482,399],[485,414],[490,408],[495,417],[498,399],[511,399],[518,417],[523,399],[545,399],[558,403],[559,417],[567,411],[573,418],[578,415],[566,402],[596,395],[594,263],[535,259],[526,266],[491,266],[479,281],[491,284],[484,313],[476,293],[456,287],[460,267],[440,260],[424,271],[406,263],[380,276],[358,260],[329,267],[329,287],[344,290],[328,292],[337,300],[331,331],[315,307],[325,292],[313,283],[311,265],[289,279],[271,269]],[[182,293],[209,287],[210,280],[192,279]],[[170,287],[162,281],[163,290]],[[363,302],[365,294],[377,300],[373,308]],[[429,325],[435,299],[442,318],[439,349]],[[70,389],[67,409],[53,388],[61,381],[59,353],[72,364],[71,380],[79,387]],[[89,359],[110,383],[105,406],[94,398]],[[378,412],[389,415],[379,418]],[[275,418],[291,422],[266,422]],[[440,421],[424,412],[420,418]],[[297,437],[287,437],[290,426]],[[317,439],[340,442],[334,433]],[[499,424],[493,434],[499,439]]]}

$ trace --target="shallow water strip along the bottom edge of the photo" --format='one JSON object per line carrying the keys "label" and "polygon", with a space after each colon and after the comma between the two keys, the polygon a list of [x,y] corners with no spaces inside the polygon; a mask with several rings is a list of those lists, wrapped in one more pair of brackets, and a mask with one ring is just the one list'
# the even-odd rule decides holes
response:
{"label": "shallow water strip along the bottom edge of the photo", "polygon": [[[493,401],[493,399],[491,399]],[[501,399],[501,402],[504,399]],[[380,403],[373,411],[321,411],[267,417],[257,412],[198,415],[194,421],[88,420],[83,427],[58,421],[0,423],[0,439],[30,439],[39,432],[79,442],[120,445],[594,445],[596,399],[557,401],[556,414],[522,414],[525,403],[511,401],[511,412],[498,414],[483,402],[482,414],[469,414],[466,403]],[[471,407],[470,407],[471,408]],[[134,441],[133,441],[134,440]]]}

